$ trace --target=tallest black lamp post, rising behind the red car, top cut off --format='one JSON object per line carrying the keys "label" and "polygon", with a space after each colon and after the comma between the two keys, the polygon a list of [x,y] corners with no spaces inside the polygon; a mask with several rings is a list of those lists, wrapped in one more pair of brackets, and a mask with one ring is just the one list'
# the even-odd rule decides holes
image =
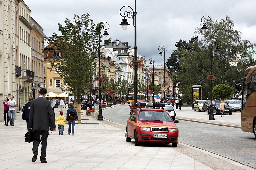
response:
{"label": "tallest black lamp post, rising behind the red car, top cut off", "polygon": [[[130,9],[124,12],[124,15],[121,14],[121,10],[124,7],[129,7]],[[131,11],[132,10],[132,11]],[[120,9],[120,15],[122,17],[124,17],[124,19],[122,20],[121,24],[122,28],[124,30],[126,30],[127,26],[130,25],[127,22],[127,19],[125,19],[125,17],[127,18],[131,18],[133,20],[133,26],[134,26],[134,61],[135,61],[135,66],[134,66],[134,109],[137,109],[137,66],[138,66],[138,62],[137,62],[137,21],[136,21],[136,15],[137,15],[137,11],[136,11],[136,0],[135,0],[135,10],[133,11],[132,7],[130,6],[123,6]]]}

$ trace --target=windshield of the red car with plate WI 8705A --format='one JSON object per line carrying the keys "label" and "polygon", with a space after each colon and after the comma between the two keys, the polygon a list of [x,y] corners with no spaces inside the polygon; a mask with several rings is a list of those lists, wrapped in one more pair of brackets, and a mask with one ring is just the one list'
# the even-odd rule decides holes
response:
{"label": "windshield of the red car with plate WI 8705A", "polygon": [[165,111],[155,111],[155,110],[140,111],[138,120],[172,122],[172,119],[168,113],[166,113]]}

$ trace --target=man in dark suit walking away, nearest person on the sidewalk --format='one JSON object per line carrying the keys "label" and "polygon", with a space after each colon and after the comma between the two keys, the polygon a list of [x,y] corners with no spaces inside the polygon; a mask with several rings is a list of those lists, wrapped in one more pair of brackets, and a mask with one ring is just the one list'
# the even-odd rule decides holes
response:
{"label": "man in dark suit walking away, nearest person on the sidewalk", "polygon": [[44,99],[46,94],[47,90],[45,88],[40,89],[40,96],[37,99],[32,100],[30,103],[29,129],[34,130],[34,143],[32,148],[34,156],[32,158],[32,162],[36,161],[36,156],[38,155],[38,146],[41,142],[40,136],[42,135],[40,160],[41,163],[47,163],[45,156],[50,123],[53,131],[56,131],[51,103]]}

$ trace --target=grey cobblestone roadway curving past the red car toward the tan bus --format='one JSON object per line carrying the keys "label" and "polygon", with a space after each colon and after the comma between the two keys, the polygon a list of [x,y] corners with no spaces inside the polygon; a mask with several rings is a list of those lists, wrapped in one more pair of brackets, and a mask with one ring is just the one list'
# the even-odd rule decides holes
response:
{"label": "grey cobblestone roadway curving past the red car toward the tan bus", "polygon": [[[130,117],[127,104],[102,110],[102,114],[104,118],[124,125]],[[177,126],[179,142],[256,168],[256,140],[252,133],[243,132],[239,128],[182,120]]]}

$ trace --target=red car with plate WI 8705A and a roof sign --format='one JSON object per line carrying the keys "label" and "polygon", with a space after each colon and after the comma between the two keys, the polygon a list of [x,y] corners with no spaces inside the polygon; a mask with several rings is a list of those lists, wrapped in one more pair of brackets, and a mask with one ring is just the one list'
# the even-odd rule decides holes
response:
{"label": "red car with plate WI 8705A and a roof sign", "polygon": [[138,108],[133,110],[126,124],[126,142],[135,140],[135,146],[140,142],[172,143],[178,146],[179,131],[172,117],[164,110],[165,103],[140,102],[140,107],[155,106],[161,109]]}

